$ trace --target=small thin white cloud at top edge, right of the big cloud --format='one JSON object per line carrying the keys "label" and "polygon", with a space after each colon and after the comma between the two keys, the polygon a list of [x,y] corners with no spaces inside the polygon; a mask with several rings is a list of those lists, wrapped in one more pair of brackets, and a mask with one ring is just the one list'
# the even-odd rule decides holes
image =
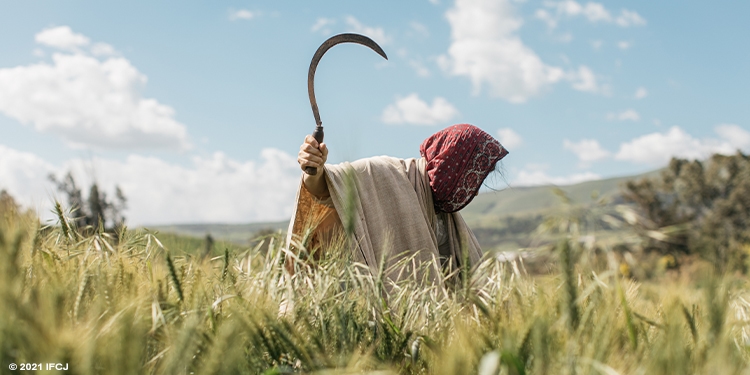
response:
{"label": "small thin white cloud at top edge, right of the big cloud", "polygon": [[555,14],[548,12],[546,9],[538,9],[535,12],[536,18],[544,21],[549,28],[557,27],[562,17],[584,17],[589,22],[614,23],[621,27],[643,26],[646,20],[638,13],[627,9],[622,9],[619,16],[613,16],[612,12],[607,10],[600,3],[588,2],[581,4],[573,0],[547,1],[547,8],[552,9]]}

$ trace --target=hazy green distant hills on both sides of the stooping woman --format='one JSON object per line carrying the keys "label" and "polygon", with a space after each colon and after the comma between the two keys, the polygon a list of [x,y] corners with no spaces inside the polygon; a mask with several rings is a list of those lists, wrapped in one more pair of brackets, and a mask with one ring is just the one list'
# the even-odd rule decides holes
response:
{"label": "hazy green distant hills on both sides of the stooping woman", "polygon": [[[559,186],[574,203],[591,202],[593,192],[620,199],[621,186],[628,180],[656,175],[659,171],[637,176],[610,178]],[[483,248],[518,248],[526,246],[528,237],[545,214],[561,205],[552,191],[554,186],[509,187],[502,191],[479,194],[461,211]],[[150,226],[149,229],[192,237],[211,234],[216,240],[248,245],[261,231],[285,231],[288,221],[250,224],[174,224]]]}

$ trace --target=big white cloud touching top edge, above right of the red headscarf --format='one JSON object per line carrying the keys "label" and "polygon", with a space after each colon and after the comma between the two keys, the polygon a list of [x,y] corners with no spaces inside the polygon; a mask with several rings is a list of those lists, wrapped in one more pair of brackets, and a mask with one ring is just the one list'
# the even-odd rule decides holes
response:
{"label": "big white cloud touching top edge, above right of the red headscarf", "polygon": [[487,84],[491,95],[523,103],[564,78],[515,34],[523,21],[509,1],[457,0],[446,17],[451,45],[438,62],[449,74],[467,76],[475,94]]}

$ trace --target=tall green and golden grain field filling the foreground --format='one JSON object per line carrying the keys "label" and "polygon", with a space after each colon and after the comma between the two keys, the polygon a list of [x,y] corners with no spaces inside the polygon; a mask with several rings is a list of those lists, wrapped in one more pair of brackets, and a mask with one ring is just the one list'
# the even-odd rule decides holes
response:
{"label": "tall green and golden grain field filling the foreground", "polygon": [[[283,242],[204,259],[158,235],[75,235],[0,218],[0,373],[734,374],[748,372],[747,280],[639,284],[580,262],[529,276],[488,258],[459,286],[352,264],[343,248],[289,276]],[[282,303],[291,302],[288,310]]]}

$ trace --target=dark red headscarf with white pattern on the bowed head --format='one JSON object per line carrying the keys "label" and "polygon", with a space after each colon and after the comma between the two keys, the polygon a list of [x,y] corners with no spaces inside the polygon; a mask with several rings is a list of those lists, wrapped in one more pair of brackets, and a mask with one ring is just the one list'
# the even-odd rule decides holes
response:
{"label": "dark red headscarf with white pattern on the bowed head", "polygon": [[508,154],[500,142],[469,124],[433,134],[422,142],[419,152],[427,160],[435,208],[442,212],[466,207],[495,164]]}

